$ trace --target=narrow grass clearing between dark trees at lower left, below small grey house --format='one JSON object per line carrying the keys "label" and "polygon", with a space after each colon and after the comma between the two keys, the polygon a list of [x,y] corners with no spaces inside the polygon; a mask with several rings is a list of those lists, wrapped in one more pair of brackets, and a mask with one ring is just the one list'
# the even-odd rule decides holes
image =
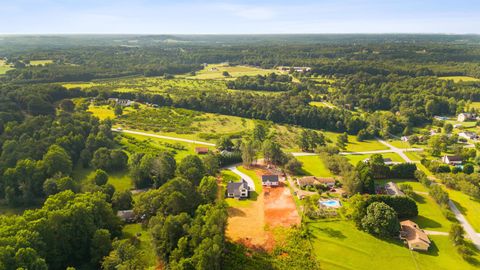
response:
{"label": "narrow grass clearing between dark trees at lower left, below small grey house", "polygon": [[148,230],[143,229],[141,224],[127,224],[123,227],[122,232],[123,239],[130,239],[133,236],[138,237],[143,261],[146,262],[148,269],[155,269],[157,259],[152,245],[152,238]]}

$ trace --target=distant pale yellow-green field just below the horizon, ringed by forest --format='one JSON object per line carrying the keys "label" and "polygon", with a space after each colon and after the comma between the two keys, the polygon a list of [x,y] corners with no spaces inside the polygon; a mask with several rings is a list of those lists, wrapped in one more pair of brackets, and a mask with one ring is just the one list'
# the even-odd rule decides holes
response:
{"label": "distant pale yellow-green field just below the horizon, ringed by forest", "polygon": [[[223,72],[226,71],[230,74],[230,77],[223,76]],[[267,75],[270,73],[281,72],[275,69],[262,69],[251,66],[230,66],[226,64],[209,64],[204,69],[198,71],[195,76],[186,75],[188,79],[212,79],[212,80],[224,80],[241,76],[255,76],[255,75]],[[185,76],[185,75],[181,75]]]}

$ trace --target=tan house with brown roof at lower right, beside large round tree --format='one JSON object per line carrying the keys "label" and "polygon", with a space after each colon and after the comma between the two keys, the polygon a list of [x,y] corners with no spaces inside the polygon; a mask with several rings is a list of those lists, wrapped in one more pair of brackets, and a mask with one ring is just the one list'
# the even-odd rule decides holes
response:
{"label": "tan house with brown roof at lower right, beside large round tree", "polygon": [[400,239],[407,242],[410,250],[427,251],[431,245],[430,239],[428,239],[425,231],[420,229],[418,225],[411,221],[405,220],[400,222]]}

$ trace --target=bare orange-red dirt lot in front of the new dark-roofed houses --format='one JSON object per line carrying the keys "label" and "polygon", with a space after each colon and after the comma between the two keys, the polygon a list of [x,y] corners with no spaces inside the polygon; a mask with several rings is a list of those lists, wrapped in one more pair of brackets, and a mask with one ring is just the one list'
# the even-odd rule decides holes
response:
{"label": "bare orange-red dirt lot in front of the new dark-roofed houses", "polygon": [[[262,172],[258,170],[257,173]],[[272,229],[300,224],[295,202],[288,187],[264,187],[256,201],[247,207],[228,209],[227,237],[248,247],[272,250]]]}

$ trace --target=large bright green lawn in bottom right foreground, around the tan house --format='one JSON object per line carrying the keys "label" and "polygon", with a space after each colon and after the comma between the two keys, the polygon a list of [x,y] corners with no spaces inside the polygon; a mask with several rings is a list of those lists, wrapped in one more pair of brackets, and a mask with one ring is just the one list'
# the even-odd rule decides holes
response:
{"label": "large bright green lawn in bottom right foreground, around the tan house", "polygon": [[309,228],[315,256],[326,270],[478,269],[460,257],[448,236],[430,236],[430,251],[419,253],[399,240],[385,241],[359,231],[350,221],[313,222]]}

